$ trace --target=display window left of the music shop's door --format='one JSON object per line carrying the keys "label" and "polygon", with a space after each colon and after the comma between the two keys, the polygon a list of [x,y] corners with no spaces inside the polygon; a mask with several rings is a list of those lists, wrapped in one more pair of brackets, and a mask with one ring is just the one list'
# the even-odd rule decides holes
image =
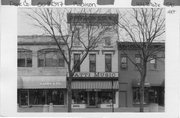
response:
{"label": "display window left of the music shop's door", "polygon": [[77,91],[72,92],[72,104],[87,104],[87,92]]}

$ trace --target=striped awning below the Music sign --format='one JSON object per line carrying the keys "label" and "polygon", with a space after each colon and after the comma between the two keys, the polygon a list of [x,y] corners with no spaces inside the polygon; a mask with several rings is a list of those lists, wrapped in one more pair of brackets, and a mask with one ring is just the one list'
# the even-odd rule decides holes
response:
{"label": "striped awning below the Music sign", "polygon": [[[112,89],[112,81],[73,81],[72,89]],[[113,82],[113,89],[118,89],[118,81]]]}

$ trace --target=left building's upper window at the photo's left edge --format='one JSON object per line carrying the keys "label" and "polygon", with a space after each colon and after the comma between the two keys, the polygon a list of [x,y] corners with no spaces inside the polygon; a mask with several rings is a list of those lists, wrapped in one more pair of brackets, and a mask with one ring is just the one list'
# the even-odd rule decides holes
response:
{"label": "left building's upper window at the photo's left edge", "polygon": [[32,67],[32,51],[18,51],[18,67]]}

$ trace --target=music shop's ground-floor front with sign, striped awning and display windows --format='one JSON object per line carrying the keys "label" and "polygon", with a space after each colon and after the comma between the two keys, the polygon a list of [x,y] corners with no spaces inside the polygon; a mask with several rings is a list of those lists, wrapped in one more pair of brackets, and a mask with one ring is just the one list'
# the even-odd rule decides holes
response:
{"label": "music shop's ground-floor front with sign, striped awning and display windows", "polygon": [[72,108],[117,108],[118,73],[76,73],[72,82]]}

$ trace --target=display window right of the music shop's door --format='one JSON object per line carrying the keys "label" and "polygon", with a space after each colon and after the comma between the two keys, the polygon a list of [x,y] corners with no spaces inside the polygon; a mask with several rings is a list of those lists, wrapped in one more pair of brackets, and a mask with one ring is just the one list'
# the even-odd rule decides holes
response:
{"label": "display window right of the music shop's door", "polygon": [[115,103],[115,92],[98,92],[99,104],[112,104]]}

